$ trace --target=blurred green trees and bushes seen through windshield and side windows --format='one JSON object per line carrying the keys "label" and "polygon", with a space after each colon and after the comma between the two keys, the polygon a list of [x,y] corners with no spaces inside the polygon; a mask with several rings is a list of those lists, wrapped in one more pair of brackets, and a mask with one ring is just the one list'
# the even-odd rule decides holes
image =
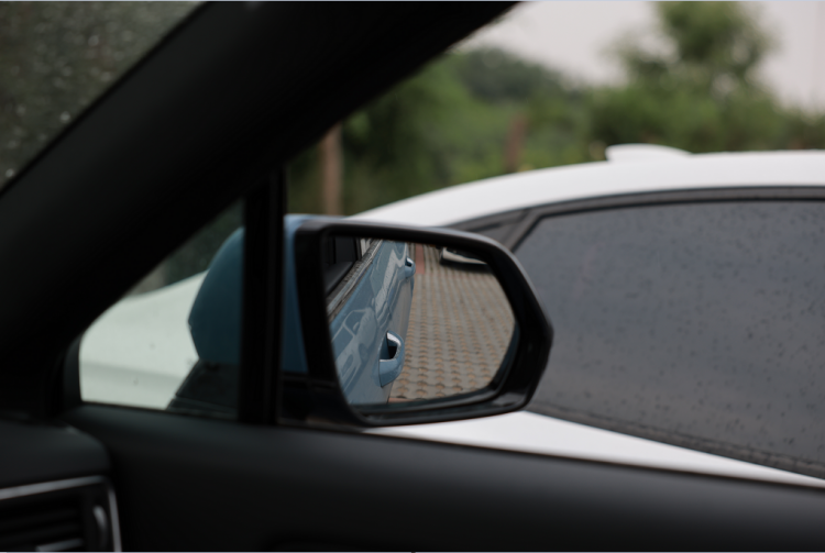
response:
{"label": "blurred green trees and bushes seen through windshield and side windows", "polygon": [[[0,2],[0,188],[197,2]],[[619,85],[459,46],[336,125],[289,166],[289,211],[351,214],[507,173],[601,161],[612,144],[825,148],[825,117],[757,78],[773,41],[738,2],[660,2],[666,47],[612,47]],[[117,184],[113,184],[117,186]],[[143,289],[207,268],[237,203]]]}

